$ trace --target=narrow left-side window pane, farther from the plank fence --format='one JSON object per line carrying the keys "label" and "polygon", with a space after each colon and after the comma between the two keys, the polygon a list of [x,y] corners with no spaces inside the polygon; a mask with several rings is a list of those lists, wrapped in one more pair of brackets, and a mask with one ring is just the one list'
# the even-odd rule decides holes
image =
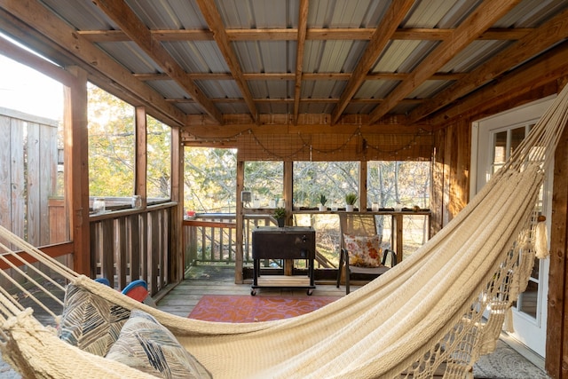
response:
{"label": "narrow left-side window pane, farther from the plank fence", "polygon": [[147,196],[170,199],[171,196],[171,130],[153,117],[147,116]]}

